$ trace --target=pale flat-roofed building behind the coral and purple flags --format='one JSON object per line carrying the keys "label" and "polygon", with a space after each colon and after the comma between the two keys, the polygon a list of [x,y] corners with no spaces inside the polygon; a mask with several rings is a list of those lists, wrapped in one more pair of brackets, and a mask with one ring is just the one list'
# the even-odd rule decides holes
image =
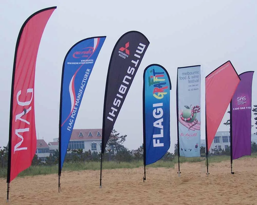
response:
{"label": "pale flat-roofed building behind the coral and purple flags", "polygon": [[[257,135],[251,135],[251,141],[257,142]],[[206,141],[205,139],[201,139],[200,146],[205,147]],[[217,146],[218,150],[226,150],[227,147],[230,146],[230,132],[229,131],[219,131],[216,132],[216,135],[213,139],[213,142],[210,146],[210,151]]]}

